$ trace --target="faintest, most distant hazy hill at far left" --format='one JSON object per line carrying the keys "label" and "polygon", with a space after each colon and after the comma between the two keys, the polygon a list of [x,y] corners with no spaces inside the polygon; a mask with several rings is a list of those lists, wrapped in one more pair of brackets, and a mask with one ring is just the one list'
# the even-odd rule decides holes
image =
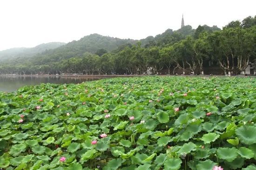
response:
{"label": "faintest, most distant hazy hill at far left", "polygon": [[0,61],[6,60],[6,59],[15,59],[18,57],[32,57],[35,54],[41,53],[45,50],[51,50],[60,47],[61,45],[64,45],[66,43],[61,42],[51,42],[46,44],[40,44],[32,48],[11,48],[8,50],[2,50],[0,51]]}

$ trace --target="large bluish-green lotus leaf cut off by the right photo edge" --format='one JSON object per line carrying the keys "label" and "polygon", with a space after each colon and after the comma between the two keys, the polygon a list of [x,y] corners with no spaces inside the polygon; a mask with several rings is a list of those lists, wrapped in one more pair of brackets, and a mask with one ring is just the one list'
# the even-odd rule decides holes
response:
{"label": "large bluish-green lotus leaf cut off by the right photo edge", "polygon": [[241,143],[252,145],[256,143],[256,126],[242,126],[236,129],[236,135]]}

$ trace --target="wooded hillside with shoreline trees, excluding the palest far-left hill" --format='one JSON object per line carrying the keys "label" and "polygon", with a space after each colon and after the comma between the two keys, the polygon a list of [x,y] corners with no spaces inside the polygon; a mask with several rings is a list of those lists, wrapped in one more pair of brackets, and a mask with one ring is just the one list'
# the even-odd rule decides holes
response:
{"label": "wooded hillside with shoreline trees, excluding the palest far-left hill", "polygon": [[33,58],[2,63],[0,74],[157,74],[163,69],[202,74],[212,66],[222,69],[219,74],[239,74],[255,59],[256,17],[248,17],[223,30],[186,25],[141,41],[92,34]]}

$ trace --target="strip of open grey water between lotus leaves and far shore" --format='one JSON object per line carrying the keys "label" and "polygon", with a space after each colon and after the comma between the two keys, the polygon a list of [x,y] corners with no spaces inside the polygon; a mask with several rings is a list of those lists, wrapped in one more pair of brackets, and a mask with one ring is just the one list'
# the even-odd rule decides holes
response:
{"label": "strip of open grey water between lotus leaves and far shore", "polygon": [[61,77],[61,76],[0,76],[0,91],[12,92],[22,86],[39,85],[41,83],[81,83],[99,80],[103,77]]}

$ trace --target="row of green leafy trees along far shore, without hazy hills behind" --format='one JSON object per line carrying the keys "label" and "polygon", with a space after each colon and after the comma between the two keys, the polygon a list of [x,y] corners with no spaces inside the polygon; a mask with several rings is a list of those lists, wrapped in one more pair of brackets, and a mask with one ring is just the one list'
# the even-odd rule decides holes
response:
{"label": "row of green leafy trees along far shore, without hazy hills behind", "polygon": [[[245,21],[246,20],[246,21]],[[98,50],[51,63],[21,63],[0,65],[0,74],[157,74],[177,69],[203,74],[204,68],[219,66],[225,74],[245,71],[249,61],[256,60],[256,17],[232,21],[220,31],[199,26],[195,34],[180,41],[156,44],[154,39],[144,47],[122,45],[113,52]],[[171,34],[172,35],[172,34]],[[173,37],[171,37],[173,39]],[[256,62],[255,62],[256,63]]]}

